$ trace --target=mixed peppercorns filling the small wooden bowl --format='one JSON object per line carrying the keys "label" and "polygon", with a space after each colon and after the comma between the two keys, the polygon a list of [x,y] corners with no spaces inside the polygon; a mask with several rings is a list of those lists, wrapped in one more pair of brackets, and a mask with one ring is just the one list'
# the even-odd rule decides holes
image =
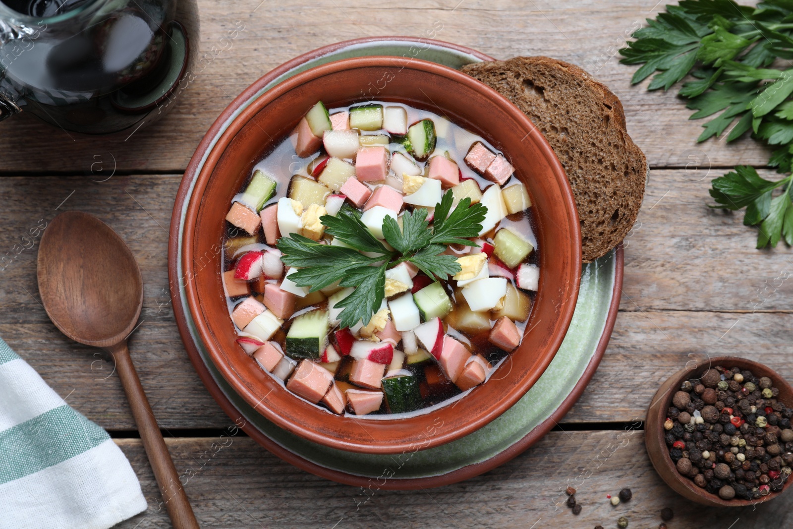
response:
{"label": "mixed peppercorns filling the small wooden bowl", "polygon": [[681,383],[664,421],[678,473],[724,500],[780,492],[793,473],[793,407],[779,394],[771,378],[722,366]]}

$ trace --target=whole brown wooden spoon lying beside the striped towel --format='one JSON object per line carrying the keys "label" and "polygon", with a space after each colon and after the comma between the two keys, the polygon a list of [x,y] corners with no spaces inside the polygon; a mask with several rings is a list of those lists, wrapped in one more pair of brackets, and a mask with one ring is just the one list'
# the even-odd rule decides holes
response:
{"label": "whole brown wooden spoon lying beside the striped towel", "polygon": [[61,213],[41,237],[39,293],[63,334],[109,351],[127,393],[146,455],[176,529],[198,526],[179,474],[132,365],[127,338],[143,306],[140,269],[116,232],[88,213]]}

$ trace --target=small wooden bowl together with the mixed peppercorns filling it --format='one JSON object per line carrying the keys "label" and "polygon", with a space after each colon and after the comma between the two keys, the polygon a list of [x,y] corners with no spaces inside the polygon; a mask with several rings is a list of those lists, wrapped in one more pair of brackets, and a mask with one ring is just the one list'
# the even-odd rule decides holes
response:
{"label": "small wooden bowl together with the mixed peppercorns filling it", "polygon": [[657,473],[699,504],[744,507],[793,482],[793,388],[745,358],[708,358],[674,374],[647,411]]}

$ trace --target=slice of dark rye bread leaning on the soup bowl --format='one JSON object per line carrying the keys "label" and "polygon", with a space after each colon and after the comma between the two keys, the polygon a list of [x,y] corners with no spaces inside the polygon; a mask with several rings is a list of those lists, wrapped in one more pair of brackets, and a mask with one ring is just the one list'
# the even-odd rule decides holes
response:
{"label": "slice of dark rye bread leaning on the soup bowl", "polygon": [[515,103],[554,148],[576,197],[584,263],[625,239],[649,167],[628,136],[617,96],[579,67],[548,57],[473,63],[462,71]]}

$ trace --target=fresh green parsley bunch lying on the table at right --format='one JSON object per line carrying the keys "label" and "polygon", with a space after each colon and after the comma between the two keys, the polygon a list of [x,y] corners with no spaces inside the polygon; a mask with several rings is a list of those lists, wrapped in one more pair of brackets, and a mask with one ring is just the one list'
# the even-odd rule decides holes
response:
{"label": "fresh green parsley bunch lying on the table at right", "polygon": [[[632,83],[657,72],[648,89],[668,90],[686,75],[681,97],[695,109],[691,119],[717,116],[703,125],[698,141],[720,136],[737,140],[747,132],[772,146],[770,167],[789,173],[793,166],[793,68],[772,67],[793,59],[793,2],[765,0],[757,8],[733,0],[683,0],[666,6],[637,40],[620,50],[621,63],[642,64]],[[782,193],[774,196],[774,190]],[[791,177],[760,178],[752,167],[715,178],[710,190],[719,209],[746,208],[744,224],[758,226],[757,247],[793,245]]]}

